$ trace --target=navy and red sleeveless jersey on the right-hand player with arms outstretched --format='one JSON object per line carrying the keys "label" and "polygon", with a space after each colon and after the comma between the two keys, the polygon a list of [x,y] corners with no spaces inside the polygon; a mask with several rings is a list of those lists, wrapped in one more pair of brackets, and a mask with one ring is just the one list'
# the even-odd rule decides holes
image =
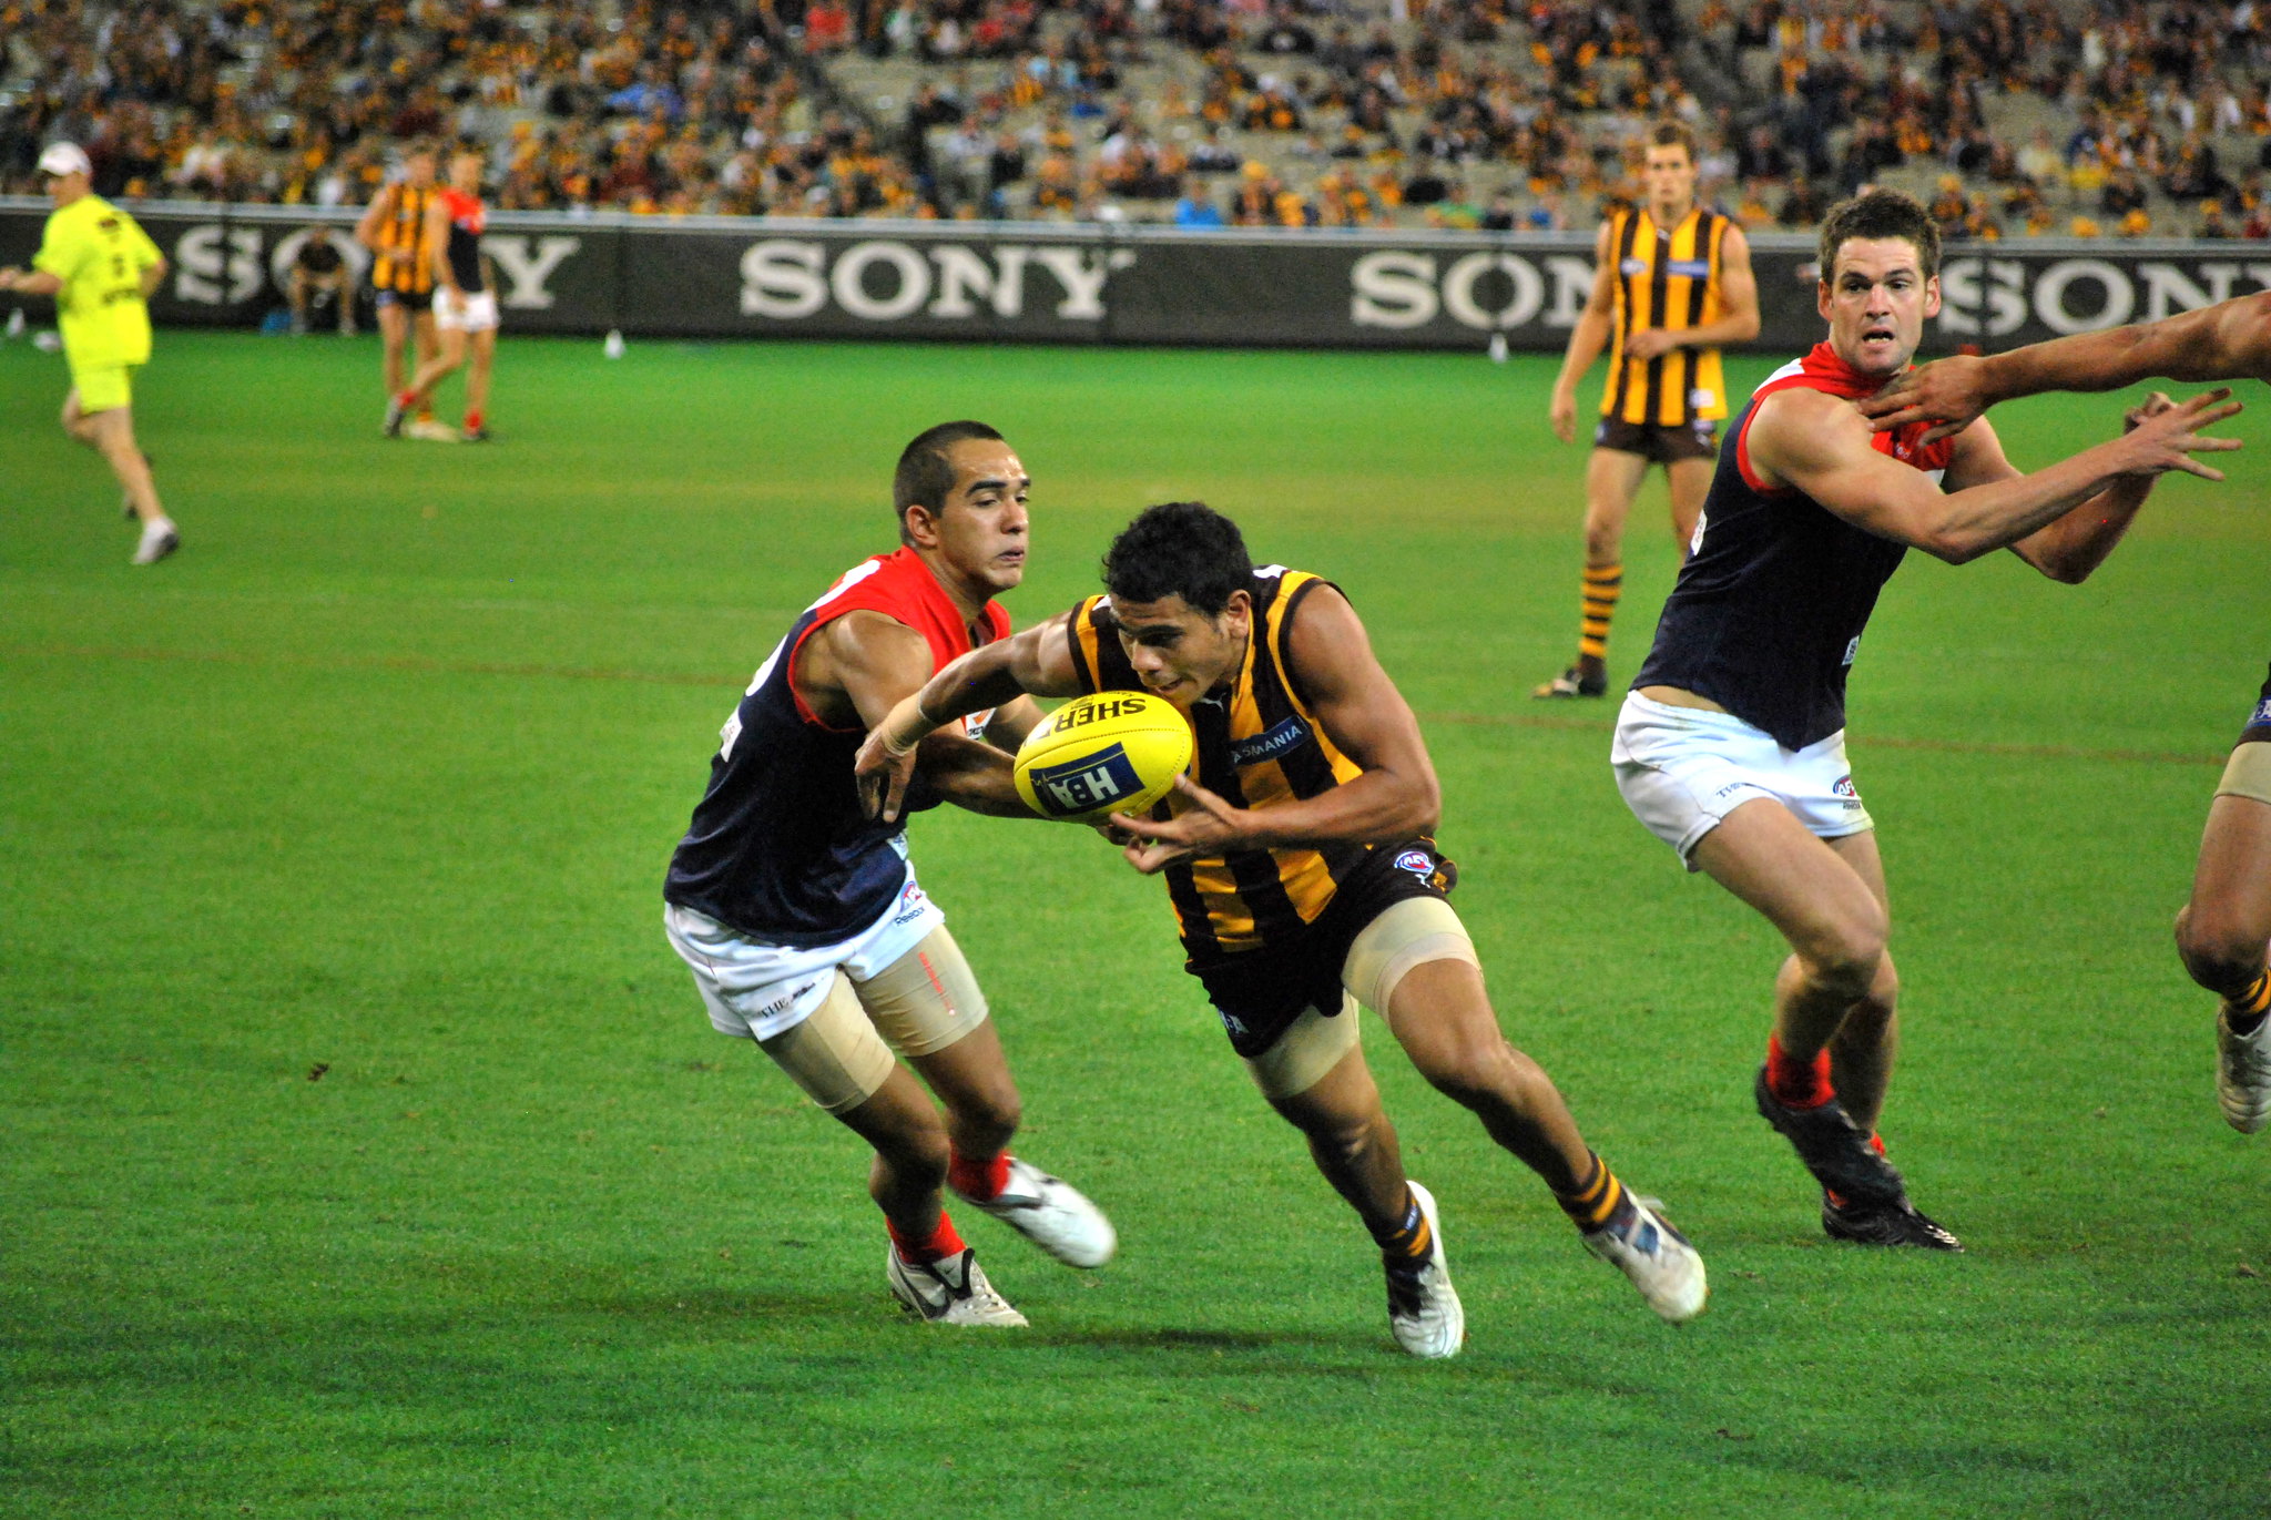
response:
{"label": "navy and red sleeveless jersey on the right-hand player with arms outstretched", "polygon": [[[1735,418],[1735,448],[1719,454],[1703,520],[1671,586],[1656,645],[1633,686],[1678,686],[1710,698],[1785,750],[1844,727],[1844,684],[1876,595],[1901,568],[1905,543],[1853,527],[1810,495],[1767,486],[1751,470],[1749,432],[1776,391],[1869,395],[1828,343],[1785,364]],[[1951,439],[1921,445],[1924,423],[1876,434],[1876,450],[1939,479]]]}

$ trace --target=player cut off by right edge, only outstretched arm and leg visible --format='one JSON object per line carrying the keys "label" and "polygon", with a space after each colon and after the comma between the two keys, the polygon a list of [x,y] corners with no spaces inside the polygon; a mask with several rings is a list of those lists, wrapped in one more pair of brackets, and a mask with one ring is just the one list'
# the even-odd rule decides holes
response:
{"label": "player cut off by right edge, only outstretched arm and leg visible", "polygon": [[[2080,332],[2005,354],[1937,359],[1862,411],[1880,429],[1926,439],[1969,427],[1987,407],[2044,391],[2114,391],[2142,379],[2271,379],[2271,291],[2157,323]],[[2192,979],[2216,993],[2216,1102],[2244,1134],[2271,1122],[2271,682],[2232,748],[2207,807],[2192,900],[2176,945]]]}

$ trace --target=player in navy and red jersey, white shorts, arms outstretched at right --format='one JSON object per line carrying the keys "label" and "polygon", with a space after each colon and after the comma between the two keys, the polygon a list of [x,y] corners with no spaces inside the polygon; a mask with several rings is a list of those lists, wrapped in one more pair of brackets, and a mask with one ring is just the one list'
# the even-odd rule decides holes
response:
{"label": "player in navy and red jersey, white shorts, arms outstretched at right", "polygon": [[1817,302],[1828,341],[1735,420],[1610,759],[1649,832],[1790,941],[1755,1102],[1821,1184],[1824,1231],[1962,1250],[1876,1138],[1899,977],[1876,825],[1844,754],[1846,670],[1910,548],[1951,563],[2008,548],[2080,582],[2157,475],[2221,479],[2192,454],[2239,448],[2198,434],[2237,404],[2155,395],[2119,439],[2035,475],[1985,423],[1935,443],[1921,423],[1871,432],[1853,402],[1908,368],[1939,311],[1939,234],[1894,191],[1830,211]]}

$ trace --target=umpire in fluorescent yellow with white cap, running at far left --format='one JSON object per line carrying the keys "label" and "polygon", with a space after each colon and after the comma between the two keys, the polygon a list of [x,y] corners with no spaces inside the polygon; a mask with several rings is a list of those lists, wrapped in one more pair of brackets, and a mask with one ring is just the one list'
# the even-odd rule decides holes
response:
{"label": "umpire in fluorescent yellow with white cap, running at far left", "polygon": [[111,461],[127,513],[141,520],[134,563],[150,566],[182,548],[134,443],[134,370],[150,361],[148,300],[166,279],[166,257],[132,216],[93,193],[86,152],[75,143],[48,143],[39,173],[55,214],[32,268],[0,268],[0,291],[55,295],[70,359],[64,432]]}

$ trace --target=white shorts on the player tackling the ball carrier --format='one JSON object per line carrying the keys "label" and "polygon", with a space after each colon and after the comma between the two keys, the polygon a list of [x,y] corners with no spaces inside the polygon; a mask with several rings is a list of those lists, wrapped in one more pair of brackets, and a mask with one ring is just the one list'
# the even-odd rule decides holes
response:
{"label": "white shorts on the player tackling the ball carrier", "polygon": [[945,922],[947,916],[915,884],[913,866],[881,918],[843,943],[813,950],[765,945],[706,913],[663,904],[663,932],[693,968],[711,1025],[718,1034],[747,1041],[795,1029],[827,1002],[838,970],[852,982],[868,982]]}

